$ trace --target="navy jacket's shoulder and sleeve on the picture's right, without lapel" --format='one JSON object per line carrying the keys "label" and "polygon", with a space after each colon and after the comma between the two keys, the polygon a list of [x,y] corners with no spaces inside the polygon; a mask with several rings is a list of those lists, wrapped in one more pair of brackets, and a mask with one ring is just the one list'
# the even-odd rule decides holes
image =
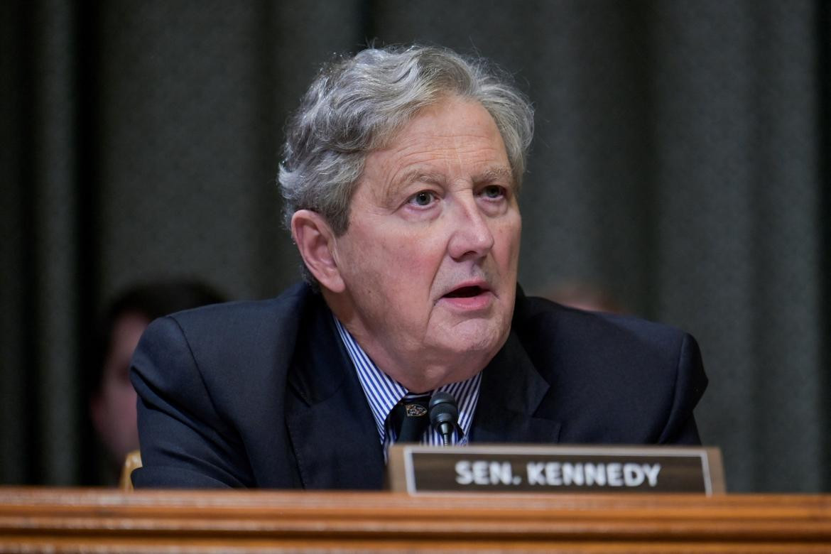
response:
{"label": "navy jacket's shoulder and sleeve on the picture's right, without lapel", "polygon": [[529,415],[558,422],[559,442],[700,443],[692,410],[707,380],[683,331],[520,292],[512,336],[543,381]]}

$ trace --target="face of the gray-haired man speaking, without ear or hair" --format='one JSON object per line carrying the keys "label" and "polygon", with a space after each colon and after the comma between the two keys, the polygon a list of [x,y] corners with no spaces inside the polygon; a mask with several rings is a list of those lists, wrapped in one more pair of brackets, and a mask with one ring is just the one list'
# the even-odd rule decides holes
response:
{"label": "face of the gray-haired man speaking, without ear or hair", "polygon": [[330,305],[407,388],[475,375],[507,339],[516,194],[499,130],[474,101],[430,106],[367,157],[333,248],[346,290]]}

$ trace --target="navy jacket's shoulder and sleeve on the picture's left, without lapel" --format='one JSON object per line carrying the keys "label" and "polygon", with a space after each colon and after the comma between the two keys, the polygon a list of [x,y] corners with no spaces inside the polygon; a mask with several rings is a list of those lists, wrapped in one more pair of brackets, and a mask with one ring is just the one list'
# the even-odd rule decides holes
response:
{"label": "navy jacket's shoulder and sleeve on the picture's left, without lapel", "polygon": [[[136,486],[256,484],[246,449],[287,441],[287,372],[307,302],[293,287],[274,300],[205,306],[148,326],[130,375],[144,463]],[[271,463],[274,486],[297,484],[293,460],[277,455]]]}

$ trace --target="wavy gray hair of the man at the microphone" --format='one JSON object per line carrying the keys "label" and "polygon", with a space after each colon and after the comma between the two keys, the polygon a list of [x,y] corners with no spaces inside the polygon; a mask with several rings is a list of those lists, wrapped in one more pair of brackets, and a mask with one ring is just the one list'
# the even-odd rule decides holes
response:
{"label": "wavy gray hair of the man at the microphone", "polygon": [[446,48],[368,48],[323,66],[288,121],[278,176],[286,228],[298,209],[310,209],[333,233],[346,233],[366,155],[419,110],[451,95],[479,101],[494,118],[519,186],[534,109],[508,73]]}

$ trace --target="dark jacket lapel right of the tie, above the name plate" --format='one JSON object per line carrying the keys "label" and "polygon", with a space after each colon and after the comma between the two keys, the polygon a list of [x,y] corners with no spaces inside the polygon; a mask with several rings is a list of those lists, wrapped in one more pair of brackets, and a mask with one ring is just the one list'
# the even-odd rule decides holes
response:
{"label": "dark jacket lapel right of the tie, above the name plate", "polygon": [[560,423],[534,417],[548,383],[514,331],[482,373],[479,402],[470,433],[477,443],[556,443]]}

